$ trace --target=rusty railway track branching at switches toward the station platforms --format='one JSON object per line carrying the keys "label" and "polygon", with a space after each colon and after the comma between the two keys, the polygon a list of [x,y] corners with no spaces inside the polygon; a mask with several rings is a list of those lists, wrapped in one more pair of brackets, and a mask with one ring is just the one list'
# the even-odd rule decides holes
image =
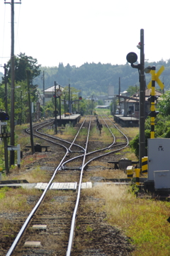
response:
{"label": "rusty railway track branching at switches toward the station platforms", "polygon": [[[103,128],[109,130],[111,134],[111,141],[108,143],[100,143],[100,141],[94,140],[93,133],[91,133],[91,130],[96,129],[96,118],[94,117],[84,118],[72,142],[57,138],[55,135],[42,133],[42,128],[49,126],[49,121],[34,126],[34,136],[45,140],[49,145],[52,143],[53,147],[57,147],[57,150],[60,150],[60,163],[55,167],[50,181],[47,183],[37,204],[23,223],[6,256],[83,255],[79,249],[76,249],[77,244],[74,242],[74,235],[79,233],[77,230],[75,231],[77,222],[79,223],[78,226],[81,225],[81,227],[89,223],[87,221],[88,216],[84,217],[83,220],[81,218],[81,212],[84,212],[84,209],[81,211],[81,206],[86,201],[86,198],[81,197],[84,172],[89,168],[92,161],[99,158],[107,161],[115,152],[128,146],[128,138],[115,126],[111,119],[106,116],[98,118]],[[118,137],[120,140],[121,136],[122,143],[116,143],[113,133],[115,129],[119,131]],[[81,133],[81,130],[83,130],[83,133]],[[99,133],[98,136],[100,136]],[[82,141],[82,138],[84,138],[84,141]],[[98,145],[100,145],[100,149],[96,149]],[[77,189],[67,191],[67,194],[63,190],[60,192],[52,191],[50,187],[54,182],[59,182],[59,174],[60,176],[67,176],[64,178],[64,181],[67,182],[72,177],[74,179],[73,183],[77,182]],[[86,215],[86,213],[84,214]],[[101,218],[101,216],[96,216],[94,213],[91,213],[91,215],[91,223],[95,223],[94,218]],[[115,233],[115,230],[111,230],[112,232]],[[123,238],[121,237],[121,239]],[[30,247],[29,245],[33,242],[37,244],[35,244],[35,247]],[[87,255],[86,252],[84,255]],[[100,255],[99,251],[98,254],[93,255]],[[125,254],[122,255],[127,255],[127,248],[125,249]]]}

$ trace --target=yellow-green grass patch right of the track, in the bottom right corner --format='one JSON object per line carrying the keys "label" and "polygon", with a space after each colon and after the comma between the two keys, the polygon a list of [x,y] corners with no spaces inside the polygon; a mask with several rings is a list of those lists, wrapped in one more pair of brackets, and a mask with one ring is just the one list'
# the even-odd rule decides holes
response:
{"label": "yellow-green grass patch right of the track, in the bottom right corner", "polygon": [[88,196],[104,199],[107,221],[125,231],[135,245],[132,256],[170,255],[168,202],[137,199],[127,187],[103,186],[82,191]]}

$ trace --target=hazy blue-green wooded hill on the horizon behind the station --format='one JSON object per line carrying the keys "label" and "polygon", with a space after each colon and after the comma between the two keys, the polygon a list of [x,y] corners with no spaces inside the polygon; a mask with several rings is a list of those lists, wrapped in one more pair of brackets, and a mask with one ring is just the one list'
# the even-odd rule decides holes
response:
{"label": "hazy blue-green wooded hill on the horizon behind the station", "polygon": [[[156,72],[164,65],[165,70],[160,79],[164,82],[165,90],[170,87],[170,60],[159,62],[145,62],[145,67],[155,66]],[[128,62],[125,65],[111,65],[84,63],[81,67],[67,66],[62,63],[58,67],[41,67],[40,76],[35,78],[35,84],[39,84],[42,89],[42,71],[45,71],[45,88],[50,87],[56,81],[62,86],[67,86],[80,89],[83,95],[100,95],[108,93],[108,85],[115,87],[115,94],[118,94],[119,77],[120,89],[125,91],[128,87],[139,87],[139,73],[137,69],[133,69]],[[151,74],[146,74],[146,86],[151,80]]]}

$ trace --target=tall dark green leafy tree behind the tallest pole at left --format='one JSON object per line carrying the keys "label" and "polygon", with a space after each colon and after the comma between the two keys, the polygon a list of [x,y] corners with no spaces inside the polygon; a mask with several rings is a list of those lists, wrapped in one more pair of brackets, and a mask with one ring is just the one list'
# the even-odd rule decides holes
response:
{"label": "tall dark green leafy tree behind the tallest pole at left", "polygon": [[[7,69],[7,103],[8,103],[8,113],[10,115],[11,109],[11,60],[8,61],[6,65]],[[21,121],[21,123],[28,121],[28,86],[27,86],[27,74],[26,71],[30,72],[30,100],[35,102],[38,100],[37,89],[33,85],[33,79],[40,74],[40,65],[37,64],[37,60],[33,57],[28,57],[25,53],[20,53],[20,55],[15,56],[15,102],[14,102],[14,118],[15,120]],[[4,77],[2,77],[2,84],[0,87],[0,108],[4,110],[5,103],[5,89],[4,89]]]}

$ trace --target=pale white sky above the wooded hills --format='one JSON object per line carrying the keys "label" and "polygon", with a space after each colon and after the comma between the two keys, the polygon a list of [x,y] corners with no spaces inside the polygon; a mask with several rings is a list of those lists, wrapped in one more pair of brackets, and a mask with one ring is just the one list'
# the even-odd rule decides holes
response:
{"label": "pale white sky above the wooded hills", "polygon": [[[42,66],[125,65],[128,52],[136,52],[140,62],[141,28],[145,59],[170,59],[169,0],[21,0],[14,10],[15,55],[25,52]],[[0,34],[4,65],[11,55],[11,4],[4,0]],[[0,71],[4,73],[3,68]]]}

